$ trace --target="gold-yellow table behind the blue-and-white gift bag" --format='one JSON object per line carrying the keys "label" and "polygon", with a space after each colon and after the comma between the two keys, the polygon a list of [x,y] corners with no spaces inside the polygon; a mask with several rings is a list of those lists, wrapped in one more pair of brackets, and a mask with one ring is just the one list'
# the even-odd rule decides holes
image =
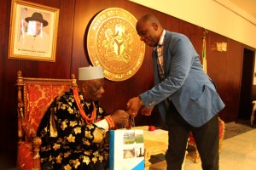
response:
{"label": "gold-yellow table behind the blue-and-white gift bag", "polygon": [[[158,154],[166,154],[168,148],[168,132],[162,129],[148,131],[148,126],[132,127],[132,129],[143,129],[144,139],[144,156],[145,156],[145,170],[151,166],[149,161],[150,156]],[[186,152],[187,154],[187,152]],[[184,156],[184,161],[185,161]],[[184,166],[183,161],[183,166]],[[183,168],[182,168],[183,169]]]}

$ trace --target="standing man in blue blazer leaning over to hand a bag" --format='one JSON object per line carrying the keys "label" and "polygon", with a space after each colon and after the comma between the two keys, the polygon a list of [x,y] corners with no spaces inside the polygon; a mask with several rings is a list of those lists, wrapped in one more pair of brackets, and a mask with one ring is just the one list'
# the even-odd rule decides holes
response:
{"label": "standing man in blue blazer leaning over to hand a bag", "polygon": [[142,109],[150,115],[157,105],[168,127],[168,170],[180,170],[189,132],[204,170],[218,169],[218,112],[224,108],[214,82],[203,71],[200,56],[183,34],[166,31],[153,14],[137,21],[137,34],[150,46],[154,62],[154,87],[127,102],[135,117]]}

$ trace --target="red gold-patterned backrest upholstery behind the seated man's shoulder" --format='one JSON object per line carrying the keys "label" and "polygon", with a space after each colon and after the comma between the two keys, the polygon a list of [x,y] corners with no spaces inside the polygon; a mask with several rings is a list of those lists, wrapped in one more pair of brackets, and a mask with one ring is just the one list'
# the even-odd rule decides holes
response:
{"label": "red gold-patterned backrest upholstery behind the seated man's shoulder", "polygon": [[35,131],[56,96],[67,91],[70,85],[41,85],[30,84],[26,86],[26,118]]}

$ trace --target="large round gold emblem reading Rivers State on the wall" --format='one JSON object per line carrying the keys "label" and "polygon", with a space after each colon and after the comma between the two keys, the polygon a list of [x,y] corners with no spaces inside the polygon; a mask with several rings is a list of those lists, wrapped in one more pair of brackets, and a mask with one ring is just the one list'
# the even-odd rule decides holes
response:
{"label": "large round gold emblem reading Rivers State on the wall", "polygon": [[136,31],[136,18],[122,8],[107,8],[92,20],[87,49],[92,65],[102,66],[105,78],[123,81],[143,63],[145,45]]}

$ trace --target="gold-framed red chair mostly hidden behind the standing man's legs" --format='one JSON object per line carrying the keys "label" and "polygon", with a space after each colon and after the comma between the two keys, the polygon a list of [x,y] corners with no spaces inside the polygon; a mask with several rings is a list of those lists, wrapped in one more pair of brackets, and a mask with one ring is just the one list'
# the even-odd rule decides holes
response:
{"label": "gold-framed red chair mostly hidden behind the standing man's legs", "polygon": [[[222,148],[223,140],[224,140],[225,123],[219,117],[218,117],[218,128],[219,128],[218,152],[220,152],[220,150]],[[191,152],[192,151],[194,152],[194,154],[193,154],[194,162],[195,163],[198,162],[200,156],[199,156],[196,144],[195,144],[195,139],[194,139],[193,134],[191,132],[189,133],[189,141],[188,141],[188,151],[190,151],[190,150],[191,150]]]}

